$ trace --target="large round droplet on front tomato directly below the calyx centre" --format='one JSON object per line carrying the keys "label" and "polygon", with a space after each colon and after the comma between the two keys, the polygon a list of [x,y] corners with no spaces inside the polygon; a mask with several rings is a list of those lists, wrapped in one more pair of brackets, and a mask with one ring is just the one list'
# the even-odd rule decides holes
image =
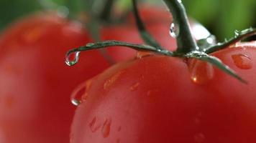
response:
{"label": "large round droplet on front tomato directly below the calyx centre", "polygon": [[205,61],[192,59],[188,63],[188,69],[192,82],[196,84],[206,84],[214,77],[214,67]]}

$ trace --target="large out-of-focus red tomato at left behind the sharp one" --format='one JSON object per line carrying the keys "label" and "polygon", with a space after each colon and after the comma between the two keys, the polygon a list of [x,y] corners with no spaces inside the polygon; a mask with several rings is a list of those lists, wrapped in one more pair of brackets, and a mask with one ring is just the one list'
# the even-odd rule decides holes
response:
{"label": "large out-of-focus red tomato at left behind the sharp one", "polygon": [[[99,51],[65,65],[65,52],[90,42],[81,24],[56,14],[35,14],[0,39],[0,142],[69,142],[73,87],[109,66]],[[95,61],[99,64],[93,64]]]}

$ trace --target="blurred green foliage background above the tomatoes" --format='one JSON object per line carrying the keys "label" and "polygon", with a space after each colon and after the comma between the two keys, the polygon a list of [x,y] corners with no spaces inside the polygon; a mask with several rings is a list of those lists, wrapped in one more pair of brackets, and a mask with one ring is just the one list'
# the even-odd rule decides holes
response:
{"label": "blurred green foliage background above the tomatoes", "polygon": [[[79,1],[88,4],[88,1],[92,0],[1,0],[0,31],[15,19],[34,11],[58,9],[59,6],[67,6],[70,2],[76,3],[73,5],[74,8],[79,6]],[[116,1],[122,6],[130,6],[131,0]],[[159,0],[147,1],[161,2]],[[183,0],[183,4],[189,16],[204,24],[221,41],[234,36],[235,29],[256,27],[255,0]]]}

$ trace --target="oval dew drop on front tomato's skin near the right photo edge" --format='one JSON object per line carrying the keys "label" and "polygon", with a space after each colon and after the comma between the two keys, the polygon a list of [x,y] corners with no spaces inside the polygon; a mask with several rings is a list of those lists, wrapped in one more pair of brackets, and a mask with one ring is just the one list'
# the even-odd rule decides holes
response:
{"label": "oval dew drop on front tomato's skin near the right photo edge", "polygon": [[232,59],[239,69],[252,69],[252,61],[249,56],[245,54],[233,54]]}

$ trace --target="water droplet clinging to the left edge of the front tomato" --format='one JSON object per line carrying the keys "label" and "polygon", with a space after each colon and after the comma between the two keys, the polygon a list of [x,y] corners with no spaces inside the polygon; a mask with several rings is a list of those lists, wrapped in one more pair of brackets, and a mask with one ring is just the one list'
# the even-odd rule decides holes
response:
{"label": "water droplet clinging to the left edge of the front tomato", "polygon": [[72,104],[75,106],[78,106],[82,102],[85,102],[88,97],[88,89],[91,86],[92,79],[87,80],[86,82],[83,82],[82,84],[78,85],[76,89],[73,90],[70,100]]}

